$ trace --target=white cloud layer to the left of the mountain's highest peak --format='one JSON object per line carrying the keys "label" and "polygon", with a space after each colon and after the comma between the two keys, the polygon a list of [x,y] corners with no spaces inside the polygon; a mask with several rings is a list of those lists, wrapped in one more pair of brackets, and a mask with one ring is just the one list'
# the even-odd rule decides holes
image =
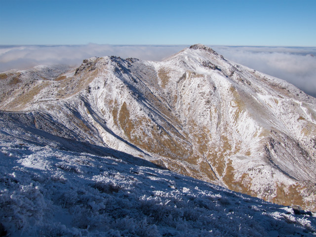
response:
{"label": "white cloud layer to the left of the mountain's highest peak", "polygon": [[22,69],[41,65],[80,65],[90,57],[120,56],[158,61],[172,55],[185,46],[142,45],[57,45],[57,46],[0,46],[0,71]]}

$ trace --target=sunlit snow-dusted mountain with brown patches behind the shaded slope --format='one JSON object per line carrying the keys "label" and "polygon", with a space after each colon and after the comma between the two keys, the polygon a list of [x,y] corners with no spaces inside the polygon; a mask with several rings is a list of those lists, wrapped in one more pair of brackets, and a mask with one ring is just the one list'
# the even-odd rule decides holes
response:
{"label": "sunlit snow-dusted mountain with brown patches behind the shaded slope", "polygon": [[1,73],[1,119],[316,210],[316,99],[286,81],[201,44],[162,62],[95,57],[50,71]]}

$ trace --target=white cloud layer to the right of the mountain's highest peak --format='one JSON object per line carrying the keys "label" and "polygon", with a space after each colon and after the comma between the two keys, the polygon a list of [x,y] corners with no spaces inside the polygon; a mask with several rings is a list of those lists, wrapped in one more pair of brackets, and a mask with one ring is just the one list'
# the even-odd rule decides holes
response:
{"label": "white cloud layer to the right of the mountain's highest peak", "polygon": [[213,49],[225,58],[284,79],[316,97],[316,47],[227,47]]}

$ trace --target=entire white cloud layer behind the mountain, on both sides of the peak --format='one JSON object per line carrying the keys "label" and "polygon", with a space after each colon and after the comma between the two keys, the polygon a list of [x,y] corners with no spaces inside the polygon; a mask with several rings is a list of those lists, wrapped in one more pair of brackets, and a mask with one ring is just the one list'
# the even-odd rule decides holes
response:
{"label": "entire white cloud layer behind the mountain, on both sides of the peak", "polygon": [[[188,45],[21,45],[0,46],[0,72],[37,65],[79,66],[97,56],[134,57],[159,61]],[[316,97],[316,47],[211,46],[228,60],[287,80]]]}

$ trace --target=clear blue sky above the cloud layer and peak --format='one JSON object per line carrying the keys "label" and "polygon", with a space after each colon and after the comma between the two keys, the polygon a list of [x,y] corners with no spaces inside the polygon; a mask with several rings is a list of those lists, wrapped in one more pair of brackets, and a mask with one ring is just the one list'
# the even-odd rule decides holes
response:
{"label": "clear blue sky above the cloud layer and peak", "polygon": [[0,44],[316,46],[316,0],[0,0]]}

